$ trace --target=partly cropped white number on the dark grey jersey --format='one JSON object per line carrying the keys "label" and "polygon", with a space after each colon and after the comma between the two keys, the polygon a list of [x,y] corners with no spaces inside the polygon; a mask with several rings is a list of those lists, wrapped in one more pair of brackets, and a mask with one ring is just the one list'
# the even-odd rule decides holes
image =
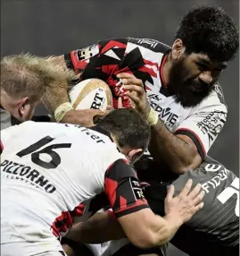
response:
{"label": "partly cropped white number on the dark grey jersey", "polygon": [[239,179],[235,178],[234,181],[226,188],[223,192],[219,194],[217,199],[222,203],[226,203],[234,194],[236,194],[236,216],[239,217]]}

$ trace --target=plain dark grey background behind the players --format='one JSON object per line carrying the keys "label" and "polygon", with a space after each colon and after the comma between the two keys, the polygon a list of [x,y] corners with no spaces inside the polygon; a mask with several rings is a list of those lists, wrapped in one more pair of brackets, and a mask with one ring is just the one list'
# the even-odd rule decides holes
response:
{"label": "plain dark grey background behind the players", "polygon": [[[1,56],[62,55],[113,37],[155,38],[171,44],[181,15],[199,4],[219,4],[239,24],[238,0],[2,0]],[[220,83],[228,122],[210,155],[238,175],[239,54]],[[37,109],[37,114],[44,113],[43,107]],[[170,247],[170,256],[183,255]]]}

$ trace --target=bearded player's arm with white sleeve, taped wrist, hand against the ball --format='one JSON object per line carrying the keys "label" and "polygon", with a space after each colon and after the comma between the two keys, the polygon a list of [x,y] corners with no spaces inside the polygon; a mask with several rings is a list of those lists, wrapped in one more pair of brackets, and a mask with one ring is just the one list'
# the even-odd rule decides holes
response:
{"label": "bearded player's arm with white sleeve, taped wrist, hand against the ball", "polygon": [[177,174],[199,166],[221,131],[228,113],[224,99],[218,93],[219,85],[216,84],[211,95],[195,107],[178,125],[176,132],[171,133],[150,107],[143,81],[128,73],[120,73],[118,77],[128,90],[125,95],[131,98],[134,107],[152,126],[149,151],[154,160],[163,161]]}

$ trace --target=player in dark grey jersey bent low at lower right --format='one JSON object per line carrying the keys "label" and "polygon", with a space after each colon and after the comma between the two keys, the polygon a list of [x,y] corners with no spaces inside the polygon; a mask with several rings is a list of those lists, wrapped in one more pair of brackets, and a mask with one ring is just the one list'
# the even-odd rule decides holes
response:
{"label": "player in dark grey jersey bent low at lower right", "polygon": [[[203,199],[204,207],[178,229],[170,243],[190,256],[239,255],[239,178],[210,157],[195,170],[179,175],[172,183],[176,194],[189,178],[194,184],[202,184],[206,192]],[[164,199],[169,185],[145,184],[143,188],[150,208],[160,216],[165,214]],[[97,213],[87,222],[73,226],[65,239],[79,243],[103,243],[114,239],[118,235],[118,230],[117,220],[114,223],[113,220],[109,220],[107,213]],[[103,255],[162,255],[163,249],[145,251],[124,239],[109,243]]]}

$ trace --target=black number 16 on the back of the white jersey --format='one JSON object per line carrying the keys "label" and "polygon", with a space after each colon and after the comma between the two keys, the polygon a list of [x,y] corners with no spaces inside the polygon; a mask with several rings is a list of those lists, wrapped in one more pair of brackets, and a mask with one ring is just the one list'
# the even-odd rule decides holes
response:
{"label": "black number 16 on the back of the white jersey", "polygon": [[[41,147],[45,146],[46,144],[50,143],[51,141],[54,141],[54,138],[52,138],[50,136],[46,136],[45,138],[41,139],[40,141],[37,141],[36,143],[30,145],[28,148],[22,149],[20,152],[17,153],[17,156],[22,158],[24,156],[31,154],[31,160],[37,166],[41,166],[46,169],[56,168],[57,166],[60,165],[61,158],[58,155],[58,153],[56,153],[54,151],[54,149],[70,148],[71,144],[70,143],[53,144],[44,149],[37,151],[37,149],[40,149]],[[35,152],[35,151],[37,151],[37,152]],[[41,160],[40,159],[41,154],[49,155],[52,158],[51,161],[47,162],[47,161]]]}

